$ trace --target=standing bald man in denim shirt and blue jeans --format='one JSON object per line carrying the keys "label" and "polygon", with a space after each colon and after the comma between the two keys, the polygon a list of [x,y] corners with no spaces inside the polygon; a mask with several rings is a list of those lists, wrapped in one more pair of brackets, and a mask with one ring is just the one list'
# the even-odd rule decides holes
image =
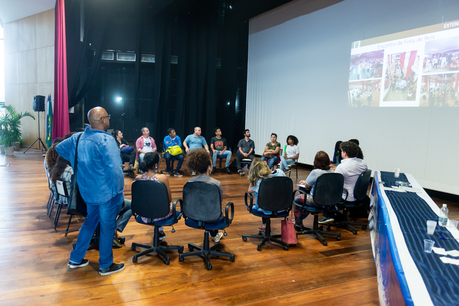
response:
{"label": "standing bald man in denim shirt and blue jeans", "polygon": [[124,270],[124,264],[113,263],[112,242],[116,229],[116,216],[124,200],[124,176],[118,146],[106,131],[110,127],[110,115],[101,107],[88,112],[91,126],[62,141],[56,151],[72,167],[75,163],[75,147],[78,143],[77,183],[87,204],[86,220],[81,226],[75,250],[70,253],[69,268],[88,265],[84,259],[95,228],[100,223],[99,274],[109,275]]}

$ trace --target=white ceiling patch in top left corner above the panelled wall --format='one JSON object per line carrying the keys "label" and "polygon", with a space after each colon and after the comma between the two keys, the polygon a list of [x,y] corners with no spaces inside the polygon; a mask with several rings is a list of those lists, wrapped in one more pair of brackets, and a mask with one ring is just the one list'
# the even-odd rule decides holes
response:
{"label": "white ceiling patch in top left corner above the panelled wall", "polygon": [[0,18],[3,23],[54,9],[56,0],[0,0]]}

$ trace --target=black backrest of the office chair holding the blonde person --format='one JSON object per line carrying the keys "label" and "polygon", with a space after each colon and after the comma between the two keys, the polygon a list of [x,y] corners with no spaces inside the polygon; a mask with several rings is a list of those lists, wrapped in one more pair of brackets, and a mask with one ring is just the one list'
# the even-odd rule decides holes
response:
{"label": "black backrest of the office chair holding the blonde person", "polygon": [[292,207],[293,182],[286,176],[268,176],[261,180],[257,205],[267,211],[277,212]]}

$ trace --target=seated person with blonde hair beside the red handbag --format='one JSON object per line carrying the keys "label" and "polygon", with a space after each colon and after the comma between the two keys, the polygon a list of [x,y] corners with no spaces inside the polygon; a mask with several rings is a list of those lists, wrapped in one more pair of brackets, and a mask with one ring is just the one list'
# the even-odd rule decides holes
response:
{"label": "seated person with blonde hair beside the red handbag", "polygon": [[[276,169],[272,171],[268,167],[266,162],[263,161],[261,158],[258,158],[258,157],[254,158],[252,161],[252,164],[250,165],[249,175],[247,177],[250,182],[248,192],[255,194],[255,204],[253,205],[252,209],[255,209],[266,215],[271,215],[270,211],[265,211],[259,208],[258,202],[257,202],[258,190],[260,189],[260,183],[262,180],[266,179],[268,176],[285,176],[285,173],[281,171],[280,169]],[[261,218],[261,220],[263,224],[260,227],[258,227],[258,231],[264,232],[266,228],[266,219]]]}

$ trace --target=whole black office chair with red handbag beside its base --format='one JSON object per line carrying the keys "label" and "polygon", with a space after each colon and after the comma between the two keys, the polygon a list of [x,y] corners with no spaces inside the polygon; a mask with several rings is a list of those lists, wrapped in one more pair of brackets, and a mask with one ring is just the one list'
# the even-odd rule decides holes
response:
{"label": "whole black office chair with red handbag beside its base", "polygon": [[[271,211],[272,214],[267,215],[263,212],[253,209],[253,195],[246,192],[245,201],[247,210],[254,216],[266,219],[265,232],[260,232],[258,235],[242,235],[242,240],[247,241],[247,238],[261,239],[258,243],[257,250],[261,251],[261,247],[268,241],[279,243],[283,245],[284,250],[288,250],[288,243],[283,242],[277,238],[282,235],[271,235],[271,218],[284,218],[288,217],[289,211],[292,209],[293,201],[293,182],[290,177],[286,176],[273,176],[267,177],[260,183],[258,189],[258,207],[265,211]],[[247,196],[250,197],[250,206],[247,204]]]}

